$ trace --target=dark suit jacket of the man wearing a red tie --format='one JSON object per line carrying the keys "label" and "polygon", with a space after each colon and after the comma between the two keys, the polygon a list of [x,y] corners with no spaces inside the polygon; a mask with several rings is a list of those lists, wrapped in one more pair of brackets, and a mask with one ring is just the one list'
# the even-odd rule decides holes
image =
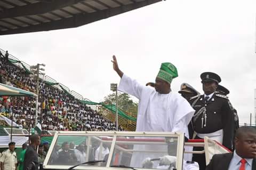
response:
{"label": "dark suit jacket of the man wearing a red tie", "polygon": [[[228,170],[233,153],[216,154],[212,157],[210,164],[207,165],[205,170]],[[256,159],[252,161],[252,170],[256,169]]]}

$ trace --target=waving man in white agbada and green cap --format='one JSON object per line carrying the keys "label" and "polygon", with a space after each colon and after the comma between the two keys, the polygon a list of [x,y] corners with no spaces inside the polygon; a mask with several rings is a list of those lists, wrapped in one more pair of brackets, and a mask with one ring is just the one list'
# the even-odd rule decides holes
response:
{"label": "waving man in white agbada and green cap", "polygon": [[[194,109],[178,93],[171,92],[172,79],[178,77],[177,68],[171,63],[162,63],[156,77],[155,88],[141,85],[136,80],[126,76],[118,67],[113,56],[113,69],[121,81],[118,90],[131,94],[140,100],[137,116],[137,132],[183,132],[188,138],[188,124],[194,115]],[[162,150],[166,146],[134,145],[134,150]],[[134,152],[131,166],[142,167],[145,158],[159,158],[163,153]],[[156,167],[155,165],[154,167]]]}

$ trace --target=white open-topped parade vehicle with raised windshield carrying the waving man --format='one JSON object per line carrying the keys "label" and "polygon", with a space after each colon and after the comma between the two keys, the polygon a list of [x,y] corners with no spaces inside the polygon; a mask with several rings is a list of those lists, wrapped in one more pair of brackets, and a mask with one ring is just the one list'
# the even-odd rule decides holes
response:
{"label": "white open-topped parade vehicle with raised windshield carrying the waving man", "polygon": [[[204,153],[206,164],[216,153],[228,150],[218,142],[184,142],[183,133],[167,132],[57,132],[45,158],[44,169],[177,169],[182,170],[184,153]],[[75,143],[75,148],[68,148]],[[62,148],[60,149],[60,146]],[[74,145],[74,144],[73,144]],[[184,146],[203,146],[204,151],[184,151]],[[175,163],[159,166],[164,156]],[[149,159],[153,164],[145,166]],[[79,165],[81,164],[81,165]],[[78,165],[78,166],[76,166]],[[75,167],[74,167],[75,166]]]}

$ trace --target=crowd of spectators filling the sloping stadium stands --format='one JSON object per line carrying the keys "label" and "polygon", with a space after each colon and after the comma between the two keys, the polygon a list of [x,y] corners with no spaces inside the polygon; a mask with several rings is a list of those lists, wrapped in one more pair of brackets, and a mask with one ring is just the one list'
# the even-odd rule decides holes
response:
{"label": "crowd of spectators filling the sloping stadium stands", "polygon": [[[0,57],[0,83],[36,92],[36,80],[25,70]],[[43,130],[114,131],[115,124],[97,111],[79,102],[64,91],[39,80],[38,120]],[[0,113],[13,119],[20,128],[34,127],[35,99],[26,97],[0,98]],[[13,115],[13,118],[12,118]],[[122,130],[121,127],[119,129]]]}

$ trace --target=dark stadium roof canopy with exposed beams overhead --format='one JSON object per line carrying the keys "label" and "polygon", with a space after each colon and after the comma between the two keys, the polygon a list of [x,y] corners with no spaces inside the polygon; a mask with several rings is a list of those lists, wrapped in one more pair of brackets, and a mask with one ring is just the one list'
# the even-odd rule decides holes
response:
{"label": "dark stadium roof canopy with exposed beams overhead", "polygon": [[74,28],[162,0],[1,0],[0,35]]}

